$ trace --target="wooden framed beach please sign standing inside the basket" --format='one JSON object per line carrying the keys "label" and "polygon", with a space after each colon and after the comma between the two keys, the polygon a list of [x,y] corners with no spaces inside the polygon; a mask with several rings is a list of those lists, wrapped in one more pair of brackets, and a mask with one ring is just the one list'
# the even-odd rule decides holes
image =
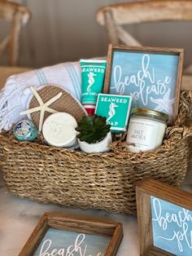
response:
{"label": "wooden framed beach please sign standing inside the basket", "polygon": [[133,107],[177,116],[183,49],[109,45],[103,93],[131,95]]}

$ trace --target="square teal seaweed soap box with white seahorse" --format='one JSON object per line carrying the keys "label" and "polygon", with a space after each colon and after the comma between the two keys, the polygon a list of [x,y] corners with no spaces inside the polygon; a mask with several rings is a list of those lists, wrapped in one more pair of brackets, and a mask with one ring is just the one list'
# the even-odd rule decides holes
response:
{"label": "square teal seaweed soap box with white seahorse", "polygon": [[132,96],[98,94],[95,114],[106,117],[111,132],[120,133],[127,129]]}

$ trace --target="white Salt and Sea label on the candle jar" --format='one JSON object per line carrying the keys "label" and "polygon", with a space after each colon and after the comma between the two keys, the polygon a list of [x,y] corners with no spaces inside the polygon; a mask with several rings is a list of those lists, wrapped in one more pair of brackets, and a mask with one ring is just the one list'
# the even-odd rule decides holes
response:
{"label": "white Salt and Sea label on the candle jar", "polygon": [[158,130],[159,124],[155,121],[131,118],[127,142],[135,145],[129,145],[128,148],[137,148],[141,151],[155,149]]}

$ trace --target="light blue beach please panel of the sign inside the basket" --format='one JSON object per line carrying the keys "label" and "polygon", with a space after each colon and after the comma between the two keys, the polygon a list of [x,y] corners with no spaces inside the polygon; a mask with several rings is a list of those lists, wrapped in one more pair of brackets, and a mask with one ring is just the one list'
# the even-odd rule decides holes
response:
{"label": "light blue beach please panel of the sign inside the basket", "polygon": [[179,55],[114,51],[110,94],[131,95],[139,108],[173,116]]}

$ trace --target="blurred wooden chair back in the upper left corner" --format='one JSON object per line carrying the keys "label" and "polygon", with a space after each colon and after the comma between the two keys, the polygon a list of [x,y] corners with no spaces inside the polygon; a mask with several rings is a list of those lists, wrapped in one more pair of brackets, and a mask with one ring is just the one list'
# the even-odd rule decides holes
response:
{"label": "blurred wooden chair back in the upper left corner", "polygon": [[20,48],[20,31],[22,26],[28,23],[30,11],[23,5],[15,2],[0,1],[0,20],[11,23],[11,29],[6,38],[0,42],[0,53],[7,50],[9,65],[18,64]]}

